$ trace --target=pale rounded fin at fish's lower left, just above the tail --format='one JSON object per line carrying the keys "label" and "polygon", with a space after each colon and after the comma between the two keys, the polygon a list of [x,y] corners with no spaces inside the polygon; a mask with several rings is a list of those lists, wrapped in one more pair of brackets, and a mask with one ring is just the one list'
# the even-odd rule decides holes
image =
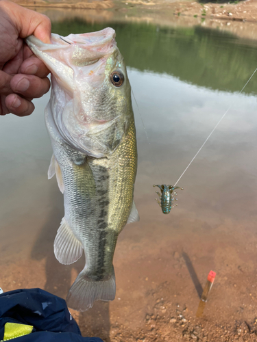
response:
{"label": "pale rounded fin at fish's lower left, just above the tail", "polygon": [[65,218],[62,218],[53,244],[56,259],[63,265],[75,263],[83,252],[82,243],[75,237]]}

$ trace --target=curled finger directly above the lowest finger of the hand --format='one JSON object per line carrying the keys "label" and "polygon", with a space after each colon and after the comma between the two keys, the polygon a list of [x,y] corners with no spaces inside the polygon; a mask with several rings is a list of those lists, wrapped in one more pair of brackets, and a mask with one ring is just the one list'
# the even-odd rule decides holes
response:
{"label": "curled finger directly above the lowest finger of the hand", "polygon": [[40,79],[34,75],[14,75],[10,81],[12,92],[21,94],[27,98],[41,97],[50,88],[50,81],[47,77]]}

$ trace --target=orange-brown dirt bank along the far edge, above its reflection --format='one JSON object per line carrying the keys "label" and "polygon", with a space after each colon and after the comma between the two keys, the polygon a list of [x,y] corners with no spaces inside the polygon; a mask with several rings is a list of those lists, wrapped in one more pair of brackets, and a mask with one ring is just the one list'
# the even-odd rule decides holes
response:
{"label": "orange-brown dirt bank along the far edge, above its reflection", "polygon": [[257,21],[257,1],[230,1],[212,3],[207,1],[167,1],[167,0],[125,0],[125,1],[45,1],[45,0],[14,0],[27,7],[48,7],[48,8],[88,8],[88,9],[108,9],[136,7],[138,12],[147,10],[149,12],[164,13],[173,10],[175,15],[200,16],[201,18],[219,18],[231,21]]}

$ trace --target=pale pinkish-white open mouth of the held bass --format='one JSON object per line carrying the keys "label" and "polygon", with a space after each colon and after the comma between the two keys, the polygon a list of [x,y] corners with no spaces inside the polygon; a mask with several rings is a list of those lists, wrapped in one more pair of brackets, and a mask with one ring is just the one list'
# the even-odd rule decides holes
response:
{"label": "pale pinkish-white open mouth of the held bass", "polygon": [[74,73],[83,74],[85,79],[90,77],[92,86],[103,81],[103,66],[117,49],[115,31],[110,27],[86,34],[69,34],[66,37],[52,34],[52,44],[45,44],[34,36],[26,38],[26,42],[70,94],[74,90]]}

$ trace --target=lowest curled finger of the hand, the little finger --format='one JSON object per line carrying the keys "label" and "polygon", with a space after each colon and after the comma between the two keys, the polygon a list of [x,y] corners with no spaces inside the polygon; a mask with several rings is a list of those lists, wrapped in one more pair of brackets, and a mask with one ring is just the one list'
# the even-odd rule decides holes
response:
{"label": "lowest curled finger of the hand, the little finger", "polygon": [[16,116],[27,116],[32,114],[35,107],[31,101],[27,101],[25,98],[17,94],[10,94],[5,98],[5,105],[8,110]]}

